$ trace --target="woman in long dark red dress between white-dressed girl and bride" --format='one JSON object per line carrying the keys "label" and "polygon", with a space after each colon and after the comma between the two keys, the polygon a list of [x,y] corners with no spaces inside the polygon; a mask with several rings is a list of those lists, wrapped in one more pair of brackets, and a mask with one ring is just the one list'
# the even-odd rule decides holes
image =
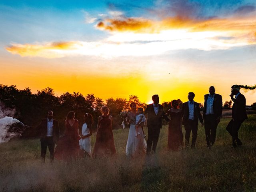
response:
{"label": "woman in long dark red dress between white-dressed girl and bride", "polygon": [[114,144],[114,135],[112,131],[112,116],[109,115],[109,108],[102,106],[102,115],[98,118],[96,142],[92,152],[92,156],[114,156],[116,148]]}

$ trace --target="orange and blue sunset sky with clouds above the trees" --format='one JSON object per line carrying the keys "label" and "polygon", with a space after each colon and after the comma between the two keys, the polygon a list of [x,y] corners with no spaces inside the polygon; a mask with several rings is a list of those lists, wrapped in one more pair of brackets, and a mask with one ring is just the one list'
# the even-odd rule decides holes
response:
{"label": "orange and blue sunset sky with clouds above the trees", "polygon": [[224,102],[256,84],[255,0],[1,0],[0,24],[0,84],[19,89]]}

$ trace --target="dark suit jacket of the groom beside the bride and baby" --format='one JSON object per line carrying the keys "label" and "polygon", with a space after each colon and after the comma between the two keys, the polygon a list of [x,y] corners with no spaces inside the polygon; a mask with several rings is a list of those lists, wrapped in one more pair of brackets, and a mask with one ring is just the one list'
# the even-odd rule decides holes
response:
{"label": "dark suit jacket of the groom beside the bride and baby", "polygon": [[148,128],[161,128],[162,127],[162,118],[166,121],[169,121],[168,117],[164,113],[163,106],[158,104],[158,114],[154,111],[153,104],[147,105],[145,114],[148,114],[147,127]]}

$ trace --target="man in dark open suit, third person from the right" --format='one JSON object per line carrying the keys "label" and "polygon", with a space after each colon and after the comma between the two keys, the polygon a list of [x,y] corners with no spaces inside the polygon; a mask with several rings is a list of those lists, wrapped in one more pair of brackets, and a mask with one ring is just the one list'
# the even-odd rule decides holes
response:
{"label": "man in dark open suit, third person from the right", "polygon": [[202,126],[204,126],[203,118],[200,113],[199,103],[194,102],[195,94],[193,92],[188,93],[188,101],[182,104],[182,124],[185,127],[185,145],[189,146],[190,132],[192,131],[192,143],[191,148],[196,145],[196,137],[198,130],[198,119]]}

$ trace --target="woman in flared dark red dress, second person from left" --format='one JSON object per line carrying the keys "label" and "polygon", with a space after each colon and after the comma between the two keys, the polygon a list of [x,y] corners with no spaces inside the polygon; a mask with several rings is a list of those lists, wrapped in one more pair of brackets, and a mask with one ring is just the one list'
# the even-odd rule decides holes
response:
{"label": "woman in flared dark red dress, second person from left", "polygon": [[75,112],[70,111],[65,120],[64,136],[60,138],[55,156],[59,160],[76,158],[80,150],[79,140],[81,139],[78,130],[78,120],[75,119]]}

